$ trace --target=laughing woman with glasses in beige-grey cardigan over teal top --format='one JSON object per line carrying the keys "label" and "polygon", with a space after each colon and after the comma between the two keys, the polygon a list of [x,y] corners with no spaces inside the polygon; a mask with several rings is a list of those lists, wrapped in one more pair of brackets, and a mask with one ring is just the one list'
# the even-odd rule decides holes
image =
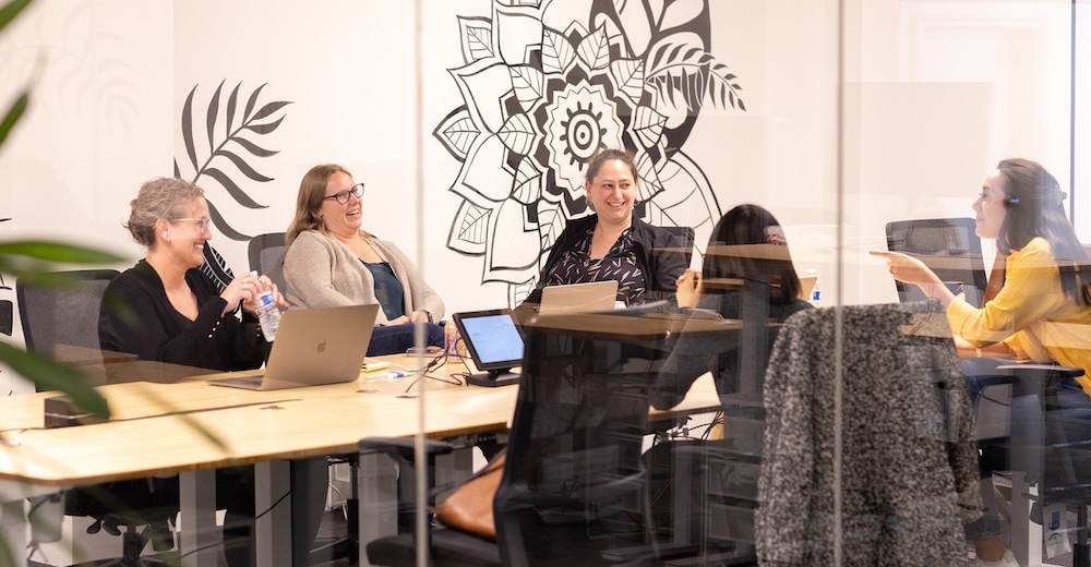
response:
{"label": "laughing woman with glasses in beige-grey cardigan over teal top", "polygon": [[443,346],[443,300],[394,243],[360,228],[363,183],[336,165],[314,166],[299,183],[296,217],[285,237],[284,278],[303,309],[379,303],[369,357],[413,346],[423,321],[428,345]]}

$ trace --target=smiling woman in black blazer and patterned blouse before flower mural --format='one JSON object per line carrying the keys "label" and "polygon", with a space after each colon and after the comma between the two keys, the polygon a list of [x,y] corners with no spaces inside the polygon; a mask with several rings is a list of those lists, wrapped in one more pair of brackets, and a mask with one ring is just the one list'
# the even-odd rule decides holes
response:
{"label": "smiling woman in black blazer and patterned blouse before flower mural", "polygon": [[624,149],[600,149],[587,162],[584,189],[592,215],[570,220],[553,242],[538,288],[519,318],[541,301],[541,288],[618,280],[626,306],[673,299],[686,268],[684,243],[668,230],[633,216],[639,193],[636,161]]}

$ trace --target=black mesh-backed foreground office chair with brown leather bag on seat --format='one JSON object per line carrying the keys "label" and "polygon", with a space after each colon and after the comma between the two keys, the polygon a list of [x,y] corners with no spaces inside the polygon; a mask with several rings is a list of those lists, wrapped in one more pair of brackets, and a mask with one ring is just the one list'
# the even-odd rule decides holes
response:
{"label": "black mesh-backed foreground office chair with brown leather bag on seat", "polygon": [[[667,326],[618,313],[597,315],[612,319],[598,330],[577,330],[585,316],[543,316],[527,327],[493,500],[496,542],[433,530],[431,565],[658,565],[642,444]],[[368,544],[368,558],[409,566],[413,550],[412,534],[382,538]]]}

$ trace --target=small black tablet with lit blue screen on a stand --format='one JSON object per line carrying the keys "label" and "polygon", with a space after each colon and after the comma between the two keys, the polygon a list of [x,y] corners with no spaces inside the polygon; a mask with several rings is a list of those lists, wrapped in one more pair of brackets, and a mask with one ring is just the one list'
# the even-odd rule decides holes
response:
{"label": "small black tablet with lit blue screen on a stand", "polygon": [[507,309],[453,315],[479,370],[506,372],[523,365],[523,334]]}

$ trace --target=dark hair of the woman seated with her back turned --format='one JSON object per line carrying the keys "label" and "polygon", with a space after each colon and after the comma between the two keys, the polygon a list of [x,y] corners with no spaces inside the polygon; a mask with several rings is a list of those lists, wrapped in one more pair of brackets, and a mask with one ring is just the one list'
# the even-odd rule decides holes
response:
{"label": "dark hair of the woman seated with her back turned", "polygon": [[[708,278],[742,278],[768,277],[771,299],[776,303],[790,303],[799,299],[800,277],[792,265],[792,256],[788,244],[780,236],[780,222],[768,210],[757,205],[739,205],[727,212],[712,228],[708,239],[710,251],[717,246],[736,244],[778,244],[784,246],[783,256],[788,260],[769,260],[760,257],[742,257],[734,254],[717,254],[710,252],[705,256],[702,277]],[[714,290],[709,290],[714,291]],[[715,292],[715,291],[714,291]]]}

